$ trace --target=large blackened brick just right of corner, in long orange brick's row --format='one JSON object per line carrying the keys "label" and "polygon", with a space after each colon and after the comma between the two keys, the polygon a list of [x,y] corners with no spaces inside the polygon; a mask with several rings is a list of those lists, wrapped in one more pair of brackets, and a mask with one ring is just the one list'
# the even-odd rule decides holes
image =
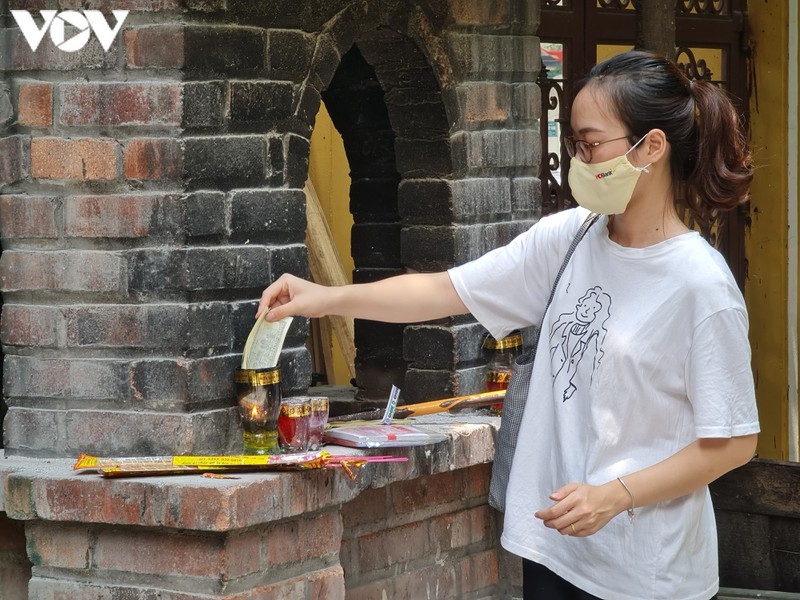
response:
{"label": "large blackened brick just right of corner, in long orange brick's row", "polygon": [[266,147],[261,136],[186,138],[184,167],[192,188],[250,187],[264,182]]}

